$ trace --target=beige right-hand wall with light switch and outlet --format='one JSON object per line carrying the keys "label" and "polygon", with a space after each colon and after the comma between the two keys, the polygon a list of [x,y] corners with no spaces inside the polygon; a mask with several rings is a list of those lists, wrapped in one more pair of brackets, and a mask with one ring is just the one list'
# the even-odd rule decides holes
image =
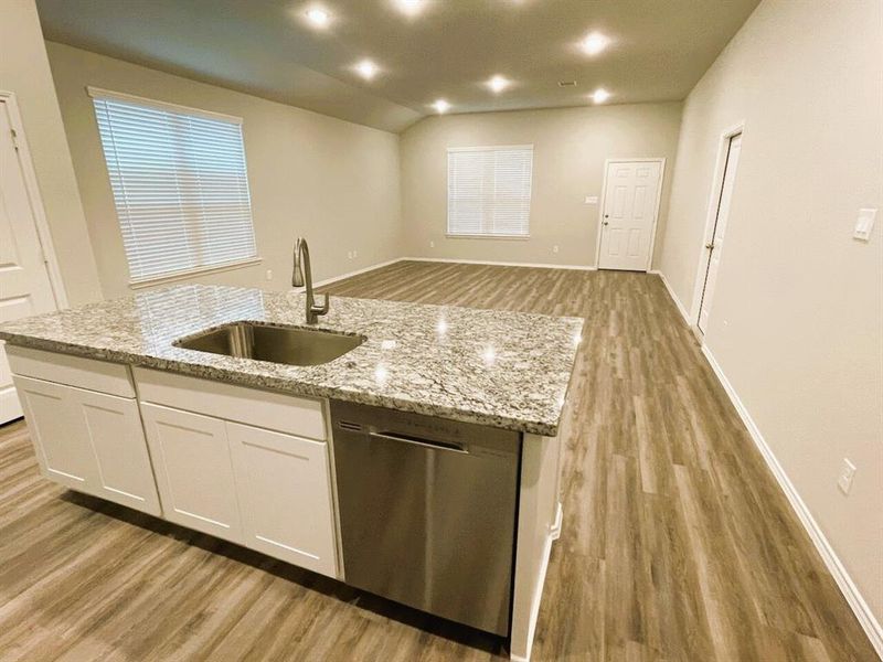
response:
{"label": "beige right-hand wall with light switch and outlet", "polygon": [[685,102],[659,263],[695,314],[720,134],[745,120],[706,343],[877,621],[883,217],[851,235],[883,205],[882,6],[762,2]]}

